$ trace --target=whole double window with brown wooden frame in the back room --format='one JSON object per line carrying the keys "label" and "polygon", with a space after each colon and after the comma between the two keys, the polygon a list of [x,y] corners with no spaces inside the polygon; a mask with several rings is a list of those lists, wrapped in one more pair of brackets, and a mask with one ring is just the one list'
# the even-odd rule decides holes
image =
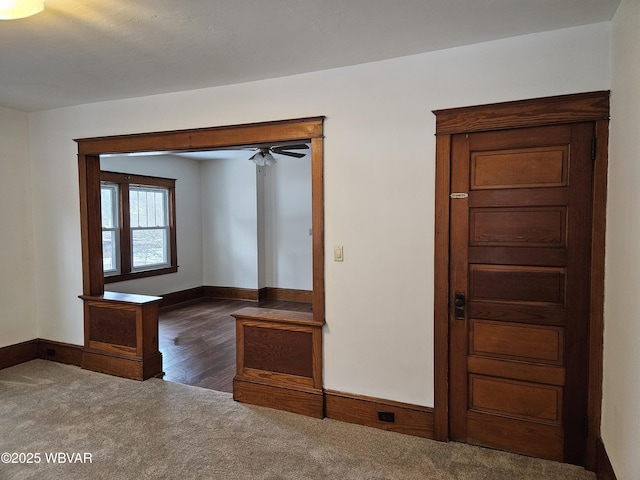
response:
{"label": "whole double window with brown wooden frame in the back room", "polygon": [[175,180],[100,172],[105,283],[177,271]]}

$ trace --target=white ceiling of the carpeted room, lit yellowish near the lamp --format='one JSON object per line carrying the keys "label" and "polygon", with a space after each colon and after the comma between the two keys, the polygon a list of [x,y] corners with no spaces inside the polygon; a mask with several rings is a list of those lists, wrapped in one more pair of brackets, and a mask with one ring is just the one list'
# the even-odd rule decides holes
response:
{"label": "white ceiling of the carpeted room, lit yellowish near the lamp", "polygon": [[45,0],[0,21],[0,105],[36,111],[608,21],[619,0]]}

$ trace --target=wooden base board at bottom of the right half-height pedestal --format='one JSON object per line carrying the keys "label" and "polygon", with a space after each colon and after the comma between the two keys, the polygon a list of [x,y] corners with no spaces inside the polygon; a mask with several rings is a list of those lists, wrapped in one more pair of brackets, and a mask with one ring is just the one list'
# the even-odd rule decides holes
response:
{"label": "wooden base board at bottom of the right half-height pedestal", "polygon": [[235,378],[233,380],[233,399],[242,403],[299,413],[308,417],[324,417],[322,390],[296,389]]}

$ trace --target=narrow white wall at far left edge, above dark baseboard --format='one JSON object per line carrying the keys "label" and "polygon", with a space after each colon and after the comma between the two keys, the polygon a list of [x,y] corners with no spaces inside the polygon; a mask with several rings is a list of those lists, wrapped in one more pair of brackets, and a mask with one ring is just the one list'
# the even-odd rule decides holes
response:
{"label": "narrow white wall at far left edge, above dark baseboard", "polygon": [[37,336],[27,114],[0,107],[0,347]]}

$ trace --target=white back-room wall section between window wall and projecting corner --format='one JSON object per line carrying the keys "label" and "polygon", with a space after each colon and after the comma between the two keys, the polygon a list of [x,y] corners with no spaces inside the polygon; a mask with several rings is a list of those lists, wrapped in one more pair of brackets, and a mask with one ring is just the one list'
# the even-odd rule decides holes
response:
{"label": "white back-room wall section between window wall and projecting corner", "polygon": [[256,166],[202,162],[204,285],[258,288]]}

